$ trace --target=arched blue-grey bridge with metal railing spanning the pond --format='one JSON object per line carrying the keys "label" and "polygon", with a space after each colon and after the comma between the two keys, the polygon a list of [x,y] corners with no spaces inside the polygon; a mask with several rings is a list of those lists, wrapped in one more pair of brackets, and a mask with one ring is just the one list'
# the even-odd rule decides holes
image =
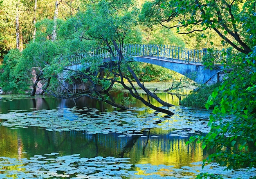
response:
{"label": "arched blue-grey bridge with metal railing spanning the pond", "polygon": [[[209,54],[206,49],[196,50],[170,45],[130,44],[124,45],[122,54],[131,61],[155,64],[176,71],[198,83],[206,83],[212,78],[215,78],[215,82],[220,80],[218,79],[218,73],[223,69],[223,66],[220,65],[224,58],[221,51],[213,51]],[[114,51],[114,55],[119,56],[117,51]],[[209,55],[216,59],[216,68],[212,70],[205,68],[203,65],[204,58],[209,57]],[[108,50],[99,48],[90,53],[72,55],[69,58],[71,65],[68,68],[81,69],[81,60],[87,57],[101,58],[104,59],[103,62],[113,61]]]}

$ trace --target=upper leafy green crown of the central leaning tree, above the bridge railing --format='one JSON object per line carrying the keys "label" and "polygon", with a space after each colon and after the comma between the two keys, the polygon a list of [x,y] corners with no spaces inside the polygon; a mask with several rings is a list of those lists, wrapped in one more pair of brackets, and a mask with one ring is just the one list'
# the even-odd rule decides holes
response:
{"label": "upper leafy green crown of the central leaning tree, above the bridge railing", "polygon": [[102,0],[88,4],[86,11],[79,13],[77,18],[87,30],[86,37],[97,40],[98,45],[106,46],[112,40],[126,43],[130,41],[129,34],[138,30],[135,28],[138,10],[132,5],[130,0]]}

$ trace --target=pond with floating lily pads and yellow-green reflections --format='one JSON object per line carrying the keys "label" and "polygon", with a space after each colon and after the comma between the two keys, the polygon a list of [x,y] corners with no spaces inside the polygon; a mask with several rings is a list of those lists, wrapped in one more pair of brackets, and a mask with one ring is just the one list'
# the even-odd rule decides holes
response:
{"label": "pond with floating lily pads and yellow-green reflections", "polygon": [[[129,93],[113,93],[115,100]],[[179,97],[158,93],[175,115],[155,113],[137,101],[119,111],[87,97],[76,100],[2,95],[0,99],[0,179],[195,178],[200,172],[249,178],[252,170],[203,170],[201,144],[210,111],[179,106]],[[147,96],[141,94],[145,99]],[[153,99],[150,99],[153,101]]]}

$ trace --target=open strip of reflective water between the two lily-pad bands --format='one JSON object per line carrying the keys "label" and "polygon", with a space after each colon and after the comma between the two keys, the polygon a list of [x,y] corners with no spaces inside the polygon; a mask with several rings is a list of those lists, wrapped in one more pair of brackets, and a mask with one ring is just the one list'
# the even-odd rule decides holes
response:
{"label": "open strip of reflective water between the two lily-pad bands", "polygon": [[79,153],[89,158],[128,157],[132,164],[165,164],[178,168],[202,161],[205,153],[200,144],[186,146],[189,137],[170,136],[170,133],[170,130],[150,129],[144,132],[146,137],[118,137],[120,134],[115,133],[89,135],[82,131],[48,132],[31,127],[9,129],[0,126],[0,156],[29,158],[51,152]]}

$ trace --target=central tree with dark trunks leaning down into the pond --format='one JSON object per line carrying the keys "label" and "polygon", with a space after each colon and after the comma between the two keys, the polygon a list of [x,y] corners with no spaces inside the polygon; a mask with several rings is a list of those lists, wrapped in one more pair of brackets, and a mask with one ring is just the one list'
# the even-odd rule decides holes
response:
{"label": "central tree with dark trunks leaning down into the pond", "polygon": [[[130,38],[132,35],[137,33],[136,21],[137,21],[137,9],[132,8],[132,1],[130,0],[102,0],[87,5],[87,9],[84,12],[78,13],[74,18],[67,20],[67,24],[63,24],[65,29],[63,30],[63,36],[65,40],[70,40],[71,43],[78,42],[76,44],[85,44],[82,47],[76,45],[74,51],[79,55],[77,49],[85,49],[86,52],[97,51],[97,49],[106,50],[109,54],[110,61],[108,63],[101,63],[102,59],[97,57],[84,58],[83,66],[85,68],[82,71],[70,70],[70,77],[73,79],[79,77],[82,81],[90,84],[90,93],[86,96],[98,99],[104,102],[116,106],[118,108],[125,108],[125,106],[117,104],[110,95],[110,90],[114,83],[119,83],[124,88],[128,89],[130,94],[141,100],[144,104],[153,108],[157,111],[172,115],[173,113],[169,110],[158,108],[153,106],[150,101],[142,98],[135,86],[132,84],[132,80],[125,74],[130,73],[133,80],[146,91],[146,93],[154,97],[158,102],[164,106],[172,106],[157,97],[154,93],[148,91],[145,86],[139,82],[139,79],[135,75],[134,71],[129,65],[130,59],[126,59],[123,56],[124,43],[134,42],[134,38]],[[137,29],[136,29],[137,30]],[[89,42],[89,45],[86,45]],[[103,75],[100,75],[103,74]],[[70,79],[73,81],[72,79]],[[130,83],[129,87],[124,81]],[[67,81],[67,79],[66,79]],[[63,85],[64,86],[64,85]],[[101,93],[104,92],[105,95]]]}

